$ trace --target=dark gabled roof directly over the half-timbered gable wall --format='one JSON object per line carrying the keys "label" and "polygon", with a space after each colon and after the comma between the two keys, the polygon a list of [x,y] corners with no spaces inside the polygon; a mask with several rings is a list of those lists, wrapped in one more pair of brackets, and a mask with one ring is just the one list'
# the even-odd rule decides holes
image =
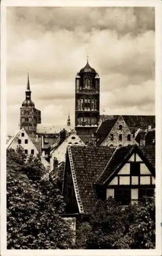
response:
{"label": "dark gabled roof directly over the half-timbered gable wall", "polygon": [[108,182],[111,175],[118,172],[125,162],[130,158],[133,152],[138,153],[142,159],[144,159],[148,165],[152,168],[153,173],[155,173],[155,146],[148,145],[148,146],[141,146],[138,147],[137,145],[130,145],[125,147],[119,147],[114,152],[112,158],[107,163],[103,173],[97,180],[97,184],[104,185]]}

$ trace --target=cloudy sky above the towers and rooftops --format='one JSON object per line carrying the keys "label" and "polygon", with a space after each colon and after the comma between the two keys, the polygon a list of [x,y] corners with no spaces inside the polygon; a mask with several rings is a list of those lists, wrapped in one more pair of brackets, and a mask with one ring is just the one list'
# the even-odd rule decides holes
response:
{"label": "cloudy sky above the towers and rooftops", "polygon": [[154,114],[154,8],[8,7],[7,128],[19,123],[29,69],[42,123],[74,122],[75,75],[100,75],[100,112]]}

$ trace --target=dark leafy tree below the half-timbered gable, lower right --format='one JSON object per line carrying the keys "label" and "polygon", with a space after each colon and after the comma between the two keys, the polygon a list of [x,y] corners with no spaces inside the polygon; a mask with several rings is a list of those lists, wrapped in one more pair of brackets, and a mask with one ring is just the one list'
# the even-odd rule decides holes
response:
{"label": "dark leafy tree below the half-timbered gable, lower right", "polygon": [[89,223],[83,225],[87,249],[152,249],[155,248],[155,202],[123,207],[114,199],[98,201]]}

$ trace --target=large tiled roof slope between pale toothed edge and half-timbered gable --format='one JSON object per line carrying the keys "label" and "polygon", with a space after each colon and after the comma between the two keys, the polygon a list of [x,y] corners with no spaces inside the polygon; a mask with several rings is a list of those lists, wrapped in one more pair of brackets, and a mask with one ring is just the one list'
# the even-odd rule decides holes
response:
{"label": "large tiled roof slope between pale toothed edge and half-timbered gable", "polygon": [[70,150],[83,211],[90,214],[97,199],[94,185],[115,148],[72,145]]}

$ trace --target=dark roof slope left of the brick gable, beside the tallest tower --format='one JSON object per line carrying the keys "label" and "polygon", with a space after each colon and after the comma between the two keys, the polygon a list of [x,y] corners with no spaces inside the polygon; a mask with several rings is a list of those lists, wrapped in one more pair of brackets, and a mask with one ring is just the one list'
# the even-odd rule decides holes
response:
{"label": "dark roof slope left of the brick gable, beside the tallest tower", "polygon": [[110,131],[112,130],[112,127],[114,126],[115,122],[117,122],[119,117],[108,119],[101,123],[98,131],[97,131],[97,144],[101,145],[101,143],[106,139]]}

